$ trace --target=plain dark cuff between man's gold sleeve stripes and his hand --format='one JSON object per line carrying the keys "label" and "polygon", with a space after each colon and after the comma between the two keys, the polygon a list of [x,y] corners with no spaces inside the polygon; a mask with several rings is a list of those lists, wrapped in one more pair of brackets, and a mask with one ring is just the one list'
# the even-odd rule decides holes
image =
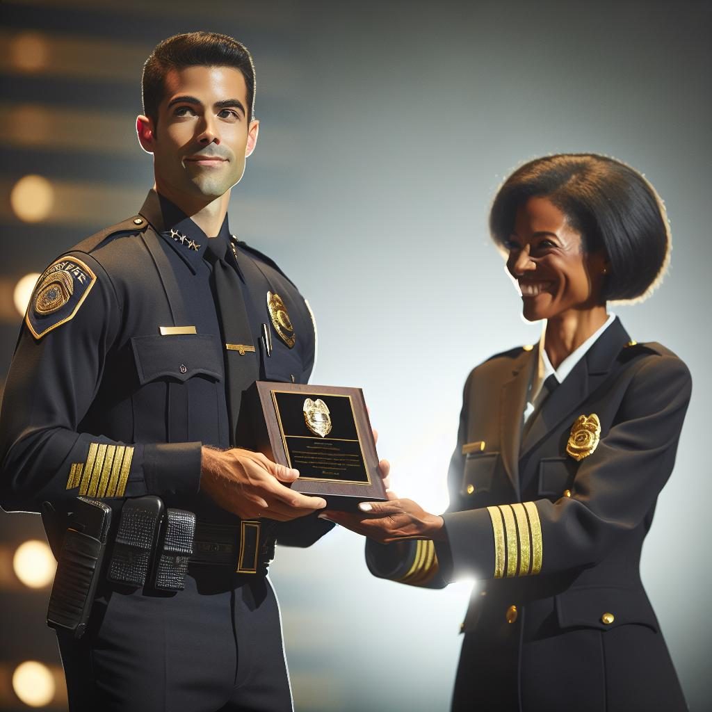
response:
{"label": "plain dark cuff between man's gold sleeve stripes and his hand", "polygon": [[147,490],[157,495],[196,494],[200,489],[201,448],[199,442],[144,446]]}

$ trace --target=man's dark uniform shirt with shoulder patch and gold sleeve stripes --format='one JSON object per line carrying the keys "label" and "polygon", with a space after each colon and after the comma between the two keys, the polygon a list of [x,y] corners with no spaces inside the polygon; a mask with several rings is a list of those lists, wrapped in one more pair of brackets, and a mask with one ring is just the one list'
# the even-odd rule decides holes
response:
{"label": "man's dark uniform shirt with shoulder patch and gold sleeve stripes", "polygon": [[[152,493],[201,519],[236,520],[199,490],[201,446],[231,442],[224,359],[241,355],[221,338],[207,239],[182,214],[168,229],[166,211],[176,209],[151,191],[139,214],[53,262],[28,305],[0,420],[0,503],[52,503],[53,545],[80,493],[115,504]],[[308,305],[273,261],[234,244],[261,377],[306,382],[315,358]],[[268,291],[286,306],[293,347],[271,323]],[[271,356],[261,323],[272,330]],[[309,518],[281,530],[283,543],[309,545],[328,526]]]}

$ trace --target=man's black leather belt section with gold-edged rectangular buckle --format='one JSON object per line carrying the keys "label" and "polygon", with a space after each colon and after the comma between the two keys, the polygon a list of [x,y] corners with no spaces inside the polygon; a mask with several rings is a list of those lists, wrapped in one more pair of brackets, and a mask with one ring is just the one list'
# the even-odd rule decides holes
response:
{"label": "man's black leather belt section with gold-edged rectangular buckle", "polygon": [[260,520],[238,525],[197,521],[190,563],[229,566],[239,574],[266,572],[274,557],[271,526]]}

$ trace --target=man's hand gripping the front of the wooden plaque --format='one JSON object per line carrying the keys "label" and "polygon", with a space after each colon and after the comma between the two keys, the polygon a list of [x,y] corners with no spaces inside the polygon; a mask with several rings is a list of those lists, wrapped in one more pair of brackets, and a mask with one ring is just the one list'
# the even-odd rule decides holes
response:
{"label": "man's hand gripping the front of the wooden plaque", "polygon": [[202,449],[201,490],[241,519],[265,517],[284,522],[323,509],[326,501],[322,498],[308,497],[282,484],[292,483],[298,476],[297,470],[258,452]]}

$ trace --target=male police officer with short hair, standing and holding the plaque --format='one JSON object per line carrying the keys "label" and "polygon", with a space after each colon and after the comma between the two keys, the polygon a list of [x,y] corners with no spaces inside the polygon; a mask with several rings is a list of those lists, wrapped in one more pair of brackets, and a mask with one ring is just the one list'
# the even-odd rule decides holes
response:
{"label": "male police officer with short hair, standing and holding the plaque", "polygon": [[238,447],[238,417],[256,379],[306,382],[313,320],[229,233],[258,134],[246,48],[174,36],[142,81],[155,187],[38,280],[1,414],[1,503],[42,509],[56,551],[68,521],[90,526],[75,510],[112,510],[86,632],[59,634],[71,708],[288,710],[266,565],[275,540],[308,546],[332,525],[287,486],[296,471]]}

